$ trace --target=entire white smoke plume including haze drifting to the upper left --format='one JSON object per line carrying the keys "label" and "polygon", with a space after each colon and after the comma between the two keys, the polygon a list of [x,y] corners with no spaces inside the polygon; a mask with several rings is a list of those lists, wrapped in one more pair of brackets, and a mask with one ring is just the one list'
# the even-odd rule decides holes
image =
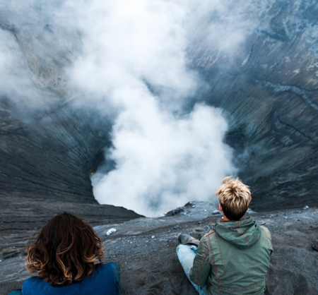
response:
{"label": "entire white smoke plume including haze drifting to the upper left", "polygon": [[45,116],[61,97],[63,104],[96,109],[112,122],[105,162],[91,176],[99,203],[153,216],[189,200],[213,200],[223,177],[237,170],[224,143],[228,124],[221,109],[204,102],[208,85],[189,55],[211,50],[204,61],[210,67],[220,56],[227,56],[227,68],[242,59],[246,36],[259,25],[253,13],[266,13],[273,3],[262,1],[250,11],[249,2],[3,3],[16,25],[28,19],[46,23],[45,35],[39,26],[39,35],[25,40],[31,38],[43,64],[42,47],[49,44],[57,59],[52,73],[63,71],[52,81],[52,73],[32,71],[14,35],[0,30],[1,95],[11,97],[15,116],[27,123]]}

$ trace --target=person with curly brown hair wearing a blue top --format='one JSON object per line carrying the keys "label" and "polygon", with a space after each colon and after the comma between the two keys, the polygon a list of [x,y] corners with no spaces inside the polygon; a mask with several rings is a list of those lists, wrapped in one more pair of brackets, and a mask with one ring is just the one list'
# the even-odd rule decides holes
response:
{"label": "person with curly brown hair wearing a blue top", "polygon": [[37,273],[9,295],[119,295],[120,268],[102,263],[102,240],[85,220],[61,213],[28,246],[28,272]]}

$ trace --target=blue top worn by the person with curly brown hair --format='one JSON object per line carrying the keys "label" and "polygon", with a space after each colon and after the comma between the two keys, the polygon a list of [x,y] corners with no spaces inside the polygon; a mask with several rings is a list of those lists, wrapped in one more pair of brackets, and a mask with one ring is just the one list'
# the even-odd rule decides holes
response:
{"label": "blue top worn by the person with curly brown hair", "polygon": [[[114,269],[118,267],[118,269]],[[90,277],[69,285],[50,285],[38,277],[30,277],[22,285],[23,295],[119,295],[119,266],[100,264]]]}

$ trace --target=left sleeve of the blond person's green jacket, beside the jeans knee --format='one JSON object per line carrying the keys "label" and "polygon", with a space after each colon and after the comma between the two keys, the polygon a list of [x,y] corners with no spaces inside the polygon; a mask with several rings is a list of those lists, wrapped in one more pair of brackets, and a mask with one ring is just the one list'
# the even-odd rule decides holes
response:
{"label": "left sleeve of the blond person's green jacket, beside the jeans knee", "polygon": [[199,286],[207,284],[208,275],[211,271],[209,252],[206,236],[203,236],[196,250],[193,267],[190,270],[190,279]]}

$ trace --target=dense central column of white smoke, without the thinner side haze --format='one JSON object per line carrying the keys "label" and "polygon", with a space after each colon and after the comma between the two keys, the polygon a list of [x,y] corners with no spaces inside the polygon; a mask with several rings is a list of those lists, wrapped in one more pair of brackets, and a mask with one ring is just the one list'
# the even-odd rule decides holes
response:
{"label": "dense central column of white smoke, without the thinner side haze", "polygon": [[115,167],[92,176],[99,203],[158,215],[213,200],[223,176],[235,173],[220,110],[184,110],[204,87],[187,60],[192,8],[194,1],[93,0],[77,16],[83,54],[70,72],[73,88],[101,112],[118,110],[105,150]]}

